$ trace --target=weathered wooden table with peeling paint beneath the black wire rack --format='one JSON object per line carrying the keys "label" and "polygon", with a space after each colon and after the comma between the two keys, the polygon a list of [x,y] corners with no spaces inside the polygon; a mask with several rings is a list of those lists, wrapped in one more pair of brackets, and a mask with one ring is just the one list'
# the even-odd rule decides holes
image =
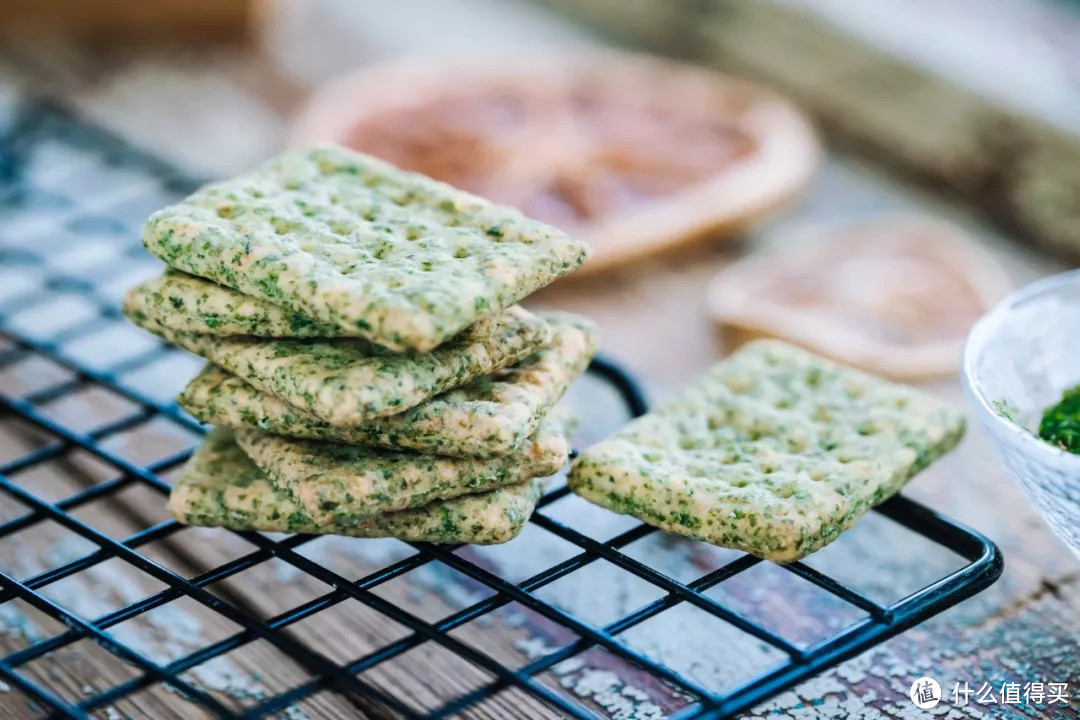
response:
{"label": "weathered wooden table with peeling paint beneath the black wire rack", "polygon": [[[392,3],[376,4],[392,19],[393,12],[389,10]],[[483,13],[488,23],[481,28],[484,37],[492,37],[492,25],[513,28],[535,22],[531,14],[518,14],[532,11],[508,12],[488,6],[477,10],[469,3],[462,5],[471,8],[470,12]],[[551,19],[544,23],[545,36],[555,38],[556,42],[582,41],[582,33],[573,28]],[[372,26],[375,27],[377,24]],[[384,37],[372,28],[368,28],[372,38]],[[384,50],[381,47],[380,52]],[[85,55],[67,47],[64,55],[55,51],[55,47],[42,50],[41,46],[6,47],[9,82],[22,82],[26,78],[35,78],[39,83],[48,81],[87,114],[166,155],[191,161],[188,164],[195,171],[210,174],[225,174],[269,154],[280,144],[285,119],[305,92],[302,81],[283,79],[280,68],[265,55],[243,50],[217,51],[194,59],[167,53],[118,59],[99,54]],[[177,89],[192,92],[200,87],[205,89],[206,97],[213,101],[178,103],[173,97]],[[237,113],[251,119],[246,126],[237,121]],[[200,132],[184,132],[191,127]],[[746,239],[725,245],[706,244],[677,257],[642,262],[589,282],[567,281],[539,294],[530,304],[569,309],[595,318],[604,331],[605,350],[624,362],[644,380],[652,397],[659,398],[688,382],[723,355],[721,338],[703,303],[703,288],[719,269],[760,244],[775,242],[779,231],[787,226],[891,209],[929,212],[968,227],[991,249],[1017,285],[1062,269],[1056,261],[1001,236],[963,207],[905,185],[859,159],[832,155],[807,198]],[[185,371],[171,368],[166,375],[171,373],[175,380],[178,372],[183,377]],[[21,373],[0,373],[0,388],[4,391],[25,389],[27,383],[42,381],[45,372],[44,367],[33,367]],[[957,404],[962,403],[955,379],[931,389]],[[579,395],[582,404],[603,402],[603,393],[598,390],[586,388]],[[110,413],[122,413],[122,405],[107,393],[86,393],[53,411],[62,413],[65,421],[90,426]],[[610,418],[611,413],[606,415]],[[610,426],[618,419],[607,422]],[[151,424],[153,426],[140,427],[137,433],[117,438],[113,448],[134,461],[149,462],[191,443],[189,435],[168,423]],[[598,429],[594,434],[603,432],[604,429]],[[31,429],[8,419],[0,419],[0,462],[40,443]],[[37,492],[59,498],[104,479],[111,472],[91,458],[72,453],[18,479],[32,484]],[[1067,706],[1036,709],[1031,706],[977,705],[972,699],[967,707],[953,708],[944,717],[989,717],[994,714],[997,717],[1080,717],[1080,565],[1051,535],[1037,512],[1004,475],[981,432],[972,429],[957,452],[916,478],[907,492],[995,540],[1007,559],[1002,579],[978,597],[804,683],[767,703],[752,716],[921,717],[908,701],[908,689],[916,677],[927,675],[936,678],[946,693],[951,692],[956,682],[968,682],[973,689],[989,682],[995,687],[995,695],[1005,681],[1070,683],[1072,696]],[[618,518],[605,517],[609,514],[600,511],[596,511],[600,515],[591,515],[592,510],[583,503],[575,505],[576,502],[576,499],[561,501],[551,512],[577,522],[609,524],[611,532],[624,527],[619,525]],[[0,521],[21,513],[22,510],[12,503],[0,504]],[[165,512],[160,497],[133,489],[122,493],[120,502],[108,507],[85,508],[80,516],[113,536],[122,538],[148,524],[164,520]],[[18,545],[0,544],[3,548],[0,568],[25,576],[86,552],[86,547],[70,541],[57,542],[64,534],[56,527],[45,526],[21,536]],[[888,595],[912,590],[947,567],[949,560],[928,559],[923,548],[907,545],[907,542],[883,521],[872,518],[837,543],[835,552],[833,548],[823,552],[818,561],[837,572],[858,568],[851,581],[873,593]],[[521,554],[523,544],[481,551],[472,557],[519,580],[570,552],[557,542],[538,541],[536,547],[540,549]],[[326,539],[305,547],[310,548],[305,552],[320,562],[355,578],[404,554],[402,546],[392,541],[357,544]],[[227,533],[190,529],[140,552],[190,576],[251,549],[244,541]],[[635,547],[634,552],[651,562],[662,563],[665,571],[677,578],[700,574],[703,569],[729,557],[723,551],[659,535]],[[80,614],[95,616],[160,587],[147,576],[132,576],[130,572],[109,566],[105,563],[58,583],[51,593],[58,601],[76,607]],[[783,629],[810,638],[821,631],[818,621],[822,619],[813,617],[813,613],[821,610],[815,604],[818,600],[800,590],[791,590],[785,584],[789,579],[785,578],[783,572],[765,569],[726,589],[725,597],[741,603],[747,611],[753,611],[755,606],[767,606],[783,613],[786,608],[791,620],[789,626],[785,622]],[[597,600],[597,587],[610,588],[610,596]],[[211,589],[269,617],[329,588],[302,578],[283,562],[272,561]],[[463,582],[460,575],[445,567],[414,571],[382,585],[377,592],[432,621],[484,596],[475,584]],[[647,595],[642,587],[603,568],[588,575],[571,575],[540,594],[596,623],[615,616],[613,612],[632,609]],[[19,603],[0,606],[0,647],[5,650],[62,629],[25,607],[17,607],[19,612],[12,612],[12,606]],[[756,662],[760,654],[759,650],[746,649],[740,641],[727,638],[721,627],[703,624],[692,613],[672,617],[659,629],[651,637],[645,631],[632,639],[706,684],[731,681],[738,670],[747,669],[746,666]],[[186,600],[154,611],[147,622],[132,621],[113,629],[124,641],[146,648],[162,662],[235,630],[231,623]],[[406,634],[352,600],[321,612],[288,631],[335,661],[362,655]],[[530,654],[566,639],[550,624],[521,609],[511,609],[489,621],[474,622],[455,635],[512,664],[521,664]],[[662,688],[639,674],[617,667],[598,653],[586,656],[586,663],[591,670],[562,668],[562,675],[552,675],[549,680],[565,681],[579,696],[592,697],[609,710],[623,712],[620,717],[624,718],[657,717],[650,712],[674,706]],[[605,675],[607,669],[615,670],[618,680]],[[63,688],[72,699],[132,676],[130,667],[89,641],[56,653],[48,662],[33,663],[28,671],[43,683]],[[303,671],[293,661],[259,641],[230,653],[226,661],[213,663],[212,667],[200,668],[191,679],[229,702],[243,705],[251,702],[251,697],[280,691],[300,682],[303,677]],[[433,706],[438,704],[440,697],[482,682],[485,676],[445,651],[422,646],[363,677],[421,706]],[[644,694],[629,688],[637,688]],[[29,718],[38,714],[39,710],[30,707],[16,692],[0,693],[0,717]],[[123,715],[201,717],[194,706],[160,685],[118,704],[102,717]],[[361,697],[328,692],[319,693],[289,709],[286,717],[305,715],[311,718],[380,717]],[[470,717],[551,717],[551,714],[523,694],[503,693],[480,706]]]}

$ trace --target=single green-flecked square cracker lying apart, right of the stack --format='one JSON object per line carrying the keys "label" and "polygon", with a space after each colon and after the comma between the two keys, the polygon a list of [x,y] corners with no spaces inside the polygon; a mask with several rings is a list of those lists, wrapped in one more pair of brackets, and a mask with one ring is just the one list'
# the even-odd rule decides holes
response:
{"label": "single green-flecked square cracker lying apart, right of the stack", "polygon": [[787,562],[835,540],[963,429],[926,393],[755,342],[585,450],[569,485],[664,530]]}

